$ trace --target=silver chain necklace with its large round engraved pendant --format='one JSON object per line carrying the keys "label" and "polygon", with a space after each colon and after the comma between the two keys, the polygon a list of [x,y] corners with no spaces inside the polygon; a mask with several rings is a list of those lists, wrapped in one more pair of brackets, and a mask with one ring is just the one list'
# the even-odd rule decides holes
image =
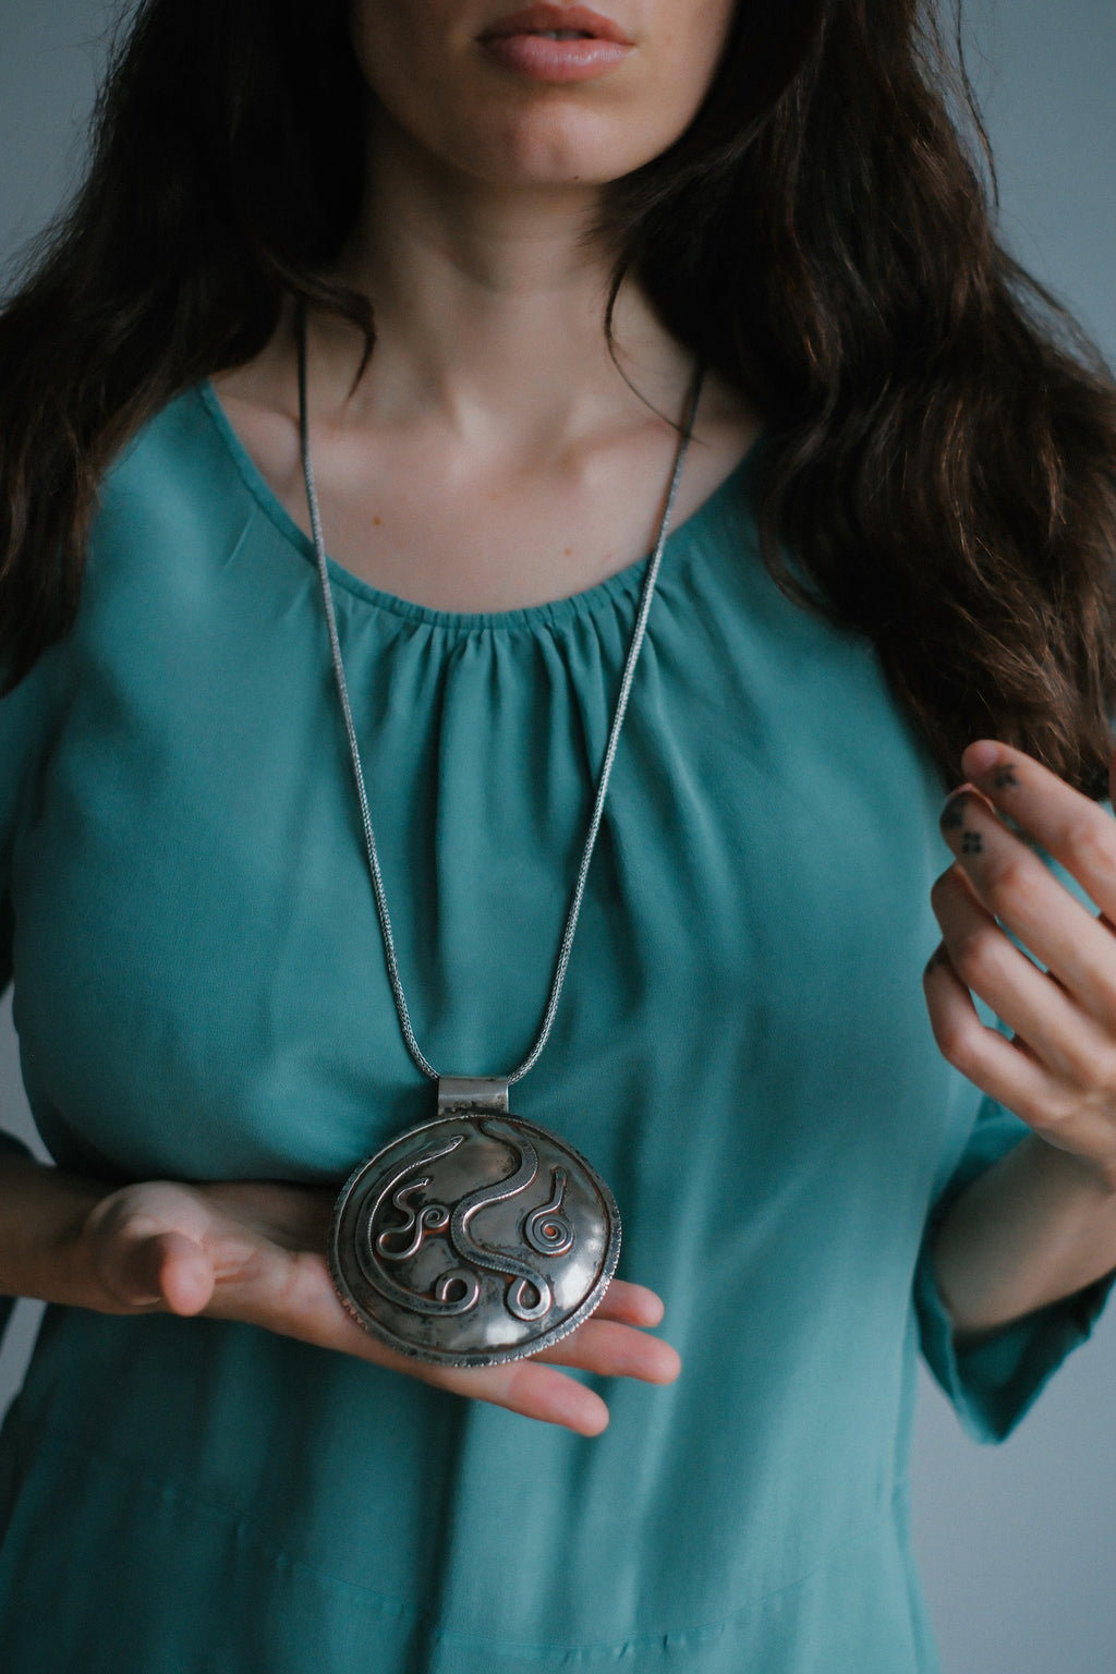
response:
{"label": "silver chain necklace with its large round engraved pendant", "polygon": [[408,1128],[365,1158],[341,1187],[330,1225],[328,1259],[338,1296],[355,1319],[383,1343],[417,1359],[445,1366],[495,1366],[535,1354],[576,1331],[594,1312],[616,1272],[621,1220],[611,1190],[571,1145],[512,1115],[509,1088],[539,1060],[562,996],[699,395],[701,375],[694,380],[659,532],[642,579],[539,1035],[519,1068],[507,1075],[440,1075],[412,1028],[371,827],[310,454],[306,331],[305,318],[299,318],[303,479],[368,874],[400,1031],[417,1068],[438,1085],[435,1120]]}

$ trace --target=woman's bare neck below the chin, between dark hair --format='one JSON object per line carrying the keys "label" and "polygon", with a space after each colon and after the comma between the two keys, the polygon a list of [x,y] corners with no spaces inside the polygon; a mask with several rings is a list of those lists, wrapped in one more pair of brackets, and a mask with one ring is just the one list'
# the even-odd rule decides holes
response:
{"label": "woman's bare neck below the chin, between dark hair", "polygon": [[[604,336],[612,258],[594,233],[599,211],[596,187],[494,187],[378,126],[341,270],[375,308],[376,353],[360,395],[375,417],[398,425],[437,415],[470,440],[547,445],[629,410],[636,397]],[[335,388],[345,372],[351,378],[351,340],[341,338],[333,333],[333,353],[316,345],[335,362]],[[641,395],[674,412],[691,358],[634,285],[617,300],[614,340]]]}

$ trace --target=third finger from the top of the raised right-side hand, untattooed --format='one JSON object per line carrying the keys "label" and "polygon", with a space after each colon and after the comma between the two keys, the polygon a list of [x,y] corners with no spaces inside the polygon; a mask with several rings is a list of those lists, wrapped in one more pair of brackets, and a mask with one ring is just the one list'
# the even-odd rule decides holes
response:
{"label": "third finger from the top of the raised right-side hand, untattooed", "polygon": [[952,971],[1054,1078],[1088,1086],[1109,1060],[1116,1073],[1116,1043],[1014,946],[977,901],[967,874],[950,867],[930,891],[930,902]]}

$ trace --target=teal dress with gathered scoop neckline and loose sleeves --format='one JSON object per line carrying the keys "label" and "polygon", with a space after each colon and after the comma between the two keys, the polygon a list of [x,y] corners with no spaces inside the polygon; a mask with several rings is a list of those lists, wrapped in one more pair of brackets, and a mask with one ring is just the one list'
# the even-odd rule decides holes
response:
{"label": "teal dress with gathered scoop neckline and loose sleeves", "polygon": [[[1103,1286],[954,1353],[927,1225],[1014,1118],[937,1055],[940,785],[873,651],[668,546],[554,1035],[517,1110],[611,1182],[669,1388],[584,1440],[251,1326],[52,1307],[0,1443],[7,1674],[925,1674],[919,1344],[1001,1436]],[[539,1024],[642,566],[490,616],[335,567],[418,1040]],[[338,1182],[432,1115],[310,542],[189,392],[114,469],[75,629],[0,703],[2,953],[59,1163]]]}

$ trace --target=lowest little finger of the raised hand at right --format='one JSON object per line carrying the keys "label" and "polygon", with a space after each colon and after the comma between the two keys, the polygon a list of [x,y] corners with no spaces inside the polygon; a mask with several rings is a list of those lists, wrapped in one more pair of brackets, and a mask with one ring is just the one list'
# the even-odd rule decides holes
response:
{"label": "lowest little finger of the raised hand at right", "polygon": [[1049,1071],[1016,1041],[980,1021],[944,944],[930,956],[922,986],[934,1040],[947,1063],[1031,1127],[1061,1108],[1064,1091]]}

